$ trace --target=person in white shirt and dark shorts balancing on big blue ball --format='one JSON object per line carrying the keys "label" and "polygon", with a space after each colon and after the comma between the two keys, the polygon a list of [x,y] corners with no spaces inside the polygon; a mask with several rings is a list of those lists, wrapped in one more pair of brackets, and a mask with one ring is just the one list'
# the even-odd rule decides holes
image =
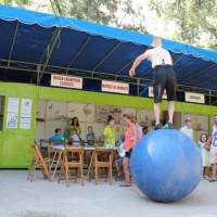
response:
{"label": "person in white shirt and dark shorts balancing on big blue ball", "polygon": [[164,128],[174,129],[173,118],[175,105],[174,101],[176,101],[176,74],[173,69],[173,60],[169,52],[163,49],[162,39],[159,37],[155,37],[152,44],[153,49],[148,50],[143,54],[139,55],[131,69],[129,71],[130,76],[135,76],[136,67],[141,63],[142,60],[149,59],[152,62],[152,67],[155,71],[153,90],[154,90],[154,115],[155,115],[155,128],[161,129],[162,126],[159,124],[159,115],[161,115],[161,102],[164,90],[167,92],[167,101],[168,101],[168,123]]}

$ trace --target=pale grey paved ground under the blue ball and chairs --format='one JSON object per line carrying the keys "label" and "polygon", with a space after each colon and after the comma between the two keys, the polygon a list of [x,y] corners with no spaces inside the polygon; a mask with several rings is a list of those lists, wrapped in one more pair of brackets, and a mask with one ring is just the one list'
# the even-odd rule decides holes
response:
{"label": "pale grey paved ground under the blue ball and chairs", "polygon": [[36,171],[34,182],[27,170],[0,170],[0,217],[217,217],[217,182],[202,180],[188,197],[175,203],[156,203],[136,186],[120,188],[100,181],[58,183]]}

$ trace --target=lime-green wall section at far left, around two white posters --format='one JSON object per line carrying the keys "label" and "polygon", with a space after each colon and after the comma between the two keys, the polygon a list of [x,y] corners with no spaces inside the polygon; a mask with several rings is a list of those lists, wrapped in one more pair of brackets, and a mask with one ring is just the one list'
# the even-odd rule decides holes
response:
{"label": "lime-green wall section at far left, around two white posters", "polygon": [[[0,132],[0,167],[27,168],[31,158],[29,145],[33,144],[35,140],[37,87],[21,84],[0,82],[0,94],[5,95],[3,130]],[[33,100],[30,129],[7,128],[9,98],[20,98],[20,110],[22,99]]]}

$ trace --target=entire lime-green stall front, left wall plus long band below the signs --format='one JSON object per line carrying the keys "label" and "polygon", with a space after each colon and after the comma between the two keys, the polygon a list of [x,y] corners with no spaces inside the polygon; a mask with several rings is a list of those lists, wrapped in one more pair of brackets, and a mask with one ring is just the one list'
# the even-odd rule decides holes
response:
{"label": "entire lime-green stall front, left wall plus long band below the signs", "polygon": [[[153,99],[122,94],[51,87],[37,87],[31,85],[10,82],[0,82],[0,94],[5,95],[3,117],[4,124],[3,130],[0,132],[0,168],[27,168],[29,166],[31,158],[29,145],[35,141],[36,112],[38,100],[85,102],[92,104],[119,105],[149,110],[152,110],[153,107]],[[9,98],[14,97],[20,98],[20,101],[21,99],[33,100],[30,129],[7,128],[8,101]],[[163,101],[162,108],[167,110],[166,101]],[[217,106],[176,102],[176,112],[214,115],[217,114]]]}

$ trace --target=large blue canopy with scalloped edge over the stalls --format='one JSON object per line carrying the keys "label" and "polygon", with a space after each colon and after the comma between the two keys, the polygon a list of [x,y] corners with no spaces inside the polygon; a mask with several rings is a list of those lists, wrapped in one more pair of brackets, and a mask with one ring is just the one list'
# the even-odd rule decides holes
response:
{"label": "large blue canopy with scalloped edge over the stalls", "polygon": [[[128,72],[153,37],[75,18],[0,5],[0,80],[50,86],[51,74],[84,78],[84,90],[101,91],[101,80],[129,84],[129,94],[148,97],[154,71],[144,60],[136,77]],[[217,104],[217,53],[163,39],[183,91]]]}

